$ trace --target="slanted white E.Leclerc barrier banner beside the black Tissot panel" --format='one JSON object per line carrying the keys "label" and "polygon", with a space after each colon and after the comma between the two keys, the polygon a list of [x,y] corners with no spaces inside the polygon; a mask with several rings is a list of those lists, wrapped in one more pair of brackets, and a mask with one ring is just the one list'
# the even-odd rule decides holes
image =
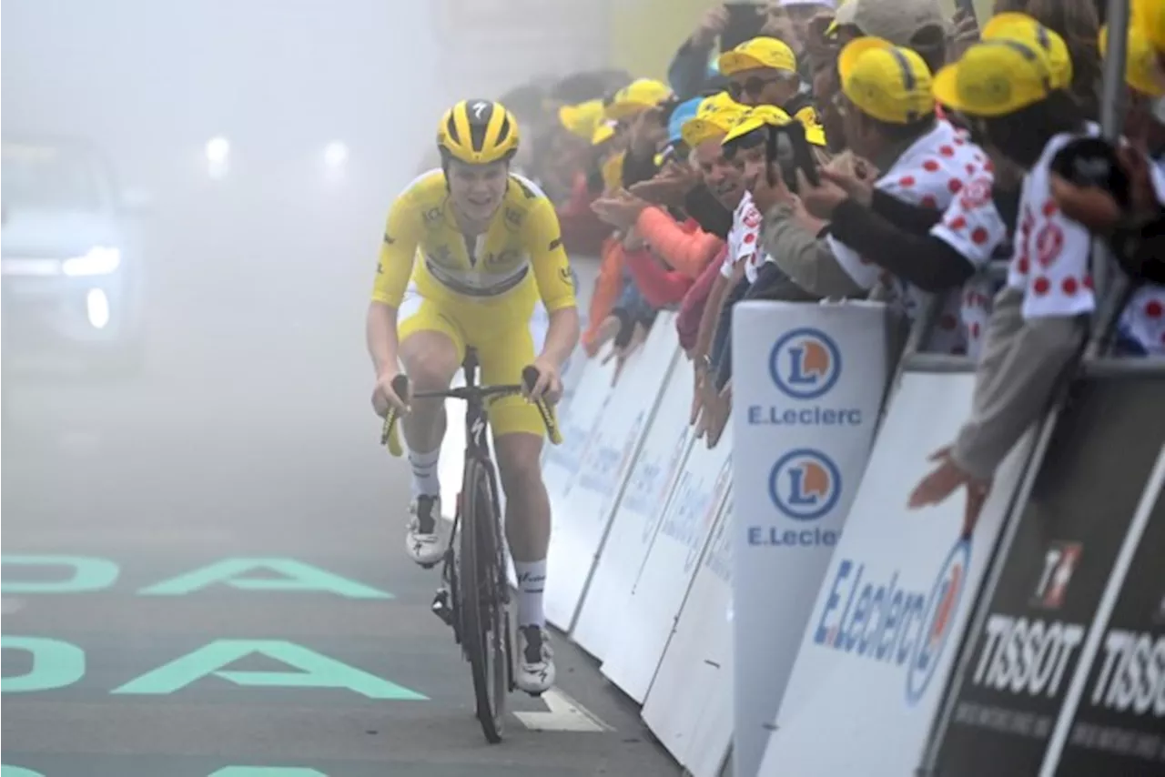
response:
{"label": "slanted white E.Leclerc barrier banner beside the black Tissot panel", "polygon": [[961,538],[961,490],[908,509],[934,467],[930,457],[970,412],[974,387],[969,374],[902,375],[816,596],[760,777],[902,777],[923,762],[1031,447],[1028,431],[996,471],[969,539]]}

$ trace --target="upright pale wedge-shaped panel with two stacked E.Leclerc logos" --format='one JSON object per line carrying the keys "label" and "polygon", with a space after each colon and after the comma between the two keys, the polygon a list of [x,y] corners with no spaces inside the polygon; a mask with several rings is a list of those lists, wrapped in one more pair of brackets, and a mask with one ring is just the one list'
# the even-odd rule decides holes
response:
{"label": "upright pale wedge-shaped panel with two stacked E.Leclerc logos", "polygon": [[732,329],[756,354],[733,363],[733,769],[753,777],[869,458],[885,309],[743,302]]}

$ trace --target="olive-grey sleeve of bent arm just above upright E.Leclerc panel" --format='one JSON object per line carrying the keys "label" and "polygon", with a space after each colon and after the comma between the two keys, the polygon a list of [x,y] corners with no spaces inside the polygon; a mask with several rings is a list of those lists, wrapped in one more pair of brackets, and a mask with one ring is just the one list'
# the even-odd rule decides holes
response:
{"label": "olive-grey sleeve of bent arm just above upright E.Leclerc panel", "polygon": [[774,205],[764,214],[761,245],[785,275],[818,297],[868,294],[841,267],[828,243],[797,222],[790,205]]}

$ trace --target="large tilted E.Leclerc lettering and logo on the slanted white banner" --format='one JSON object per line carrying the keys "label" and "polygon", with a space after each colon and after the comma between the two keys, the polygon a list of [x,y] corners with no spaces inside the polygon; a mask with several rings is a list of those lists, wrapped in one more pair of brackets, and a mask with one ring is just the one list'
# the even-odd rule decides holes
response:
{"label": "large tilted E.Leclerc lettering and logo on the slanted white banner", "polygon": [[929,592],[889,581],[866,580],[866,565],[842,559],[829,582],[813,642],[866,661],[905,669],[906,704],[926,694],[951,638],[967,588],[970,542],[961,539],[947,555]]}

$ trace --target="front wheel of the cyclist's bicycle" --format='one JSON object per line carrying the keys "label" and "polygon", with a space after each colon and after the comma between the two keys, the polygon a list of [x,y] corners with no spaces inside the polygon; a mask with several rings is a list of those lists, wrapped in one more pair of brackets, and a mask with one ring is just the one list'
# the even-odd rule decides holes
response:
{"label": "front wheel of the cyclist's bicycle", "polygon": [[497,532],[497,488],[487,462],[466,461],[464,489],[458,537],[461,647],[473,673],[481,730],[496,744],[510,687],[509,589]]}

